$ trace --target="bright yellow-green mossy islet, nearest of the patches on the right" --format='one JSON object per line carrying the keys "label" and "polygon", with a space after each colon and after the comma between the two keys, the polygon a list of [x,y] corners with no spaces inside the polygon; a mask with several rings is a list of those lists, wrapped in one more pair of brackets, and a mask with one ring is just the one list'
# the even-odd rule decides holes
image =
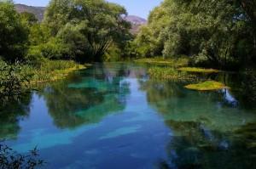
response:
{"label": "bright yellow-green mossy islet, nearest of the patches on the right", "polygon": [[185,87],[188,89],[200,90],[200,91],[220,90],[223,88],[229,88],[229,87],[226,87],[223,83],[215,82],[215,81],[207,81],[207,82],[200,82],[197,84],[189,84]]}

